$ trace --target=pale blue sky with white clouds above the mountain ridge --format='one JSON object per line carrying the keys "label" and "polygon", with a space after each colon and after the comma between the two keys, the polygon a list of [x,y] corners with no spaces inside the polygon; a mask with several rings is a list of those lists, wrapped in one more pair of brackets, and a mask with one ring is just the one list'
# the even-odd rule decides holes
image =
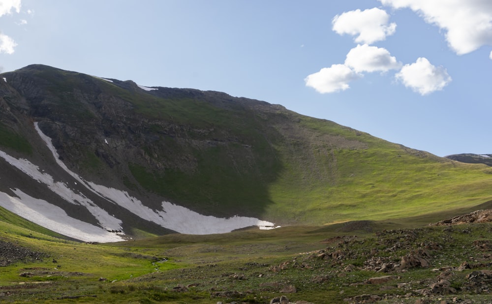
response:
{"label": "pale blue sky with white clouds above the mountain ridge", "polygon": [[492,153],[490,0],[0,0],[0,69],[33,63]]}

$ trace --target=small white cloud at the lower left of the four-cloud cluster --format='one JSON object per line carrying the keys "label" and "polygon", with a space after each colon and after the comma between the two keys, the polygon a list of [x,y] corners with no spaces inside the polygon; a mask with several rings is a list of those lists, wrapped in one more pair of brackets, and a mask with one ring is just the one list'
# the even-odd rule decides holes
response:
{"label": "small white cloud at the lower left of the four-cloud cluster", "polygon": [[319,72],[308,75],[304,81],[307,87],[320,93],[344,91],[350,88],[348,83],[362,77],[345,64],[332,64]]}

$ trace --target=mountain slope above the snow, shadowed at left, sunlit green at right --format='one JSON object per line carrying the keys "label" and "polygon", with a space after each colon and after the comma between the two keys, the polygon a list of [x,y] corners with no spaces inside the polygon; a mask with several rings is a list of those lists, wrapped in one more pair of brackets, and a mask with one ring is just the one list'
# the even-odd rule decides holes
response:
{"label": "mountain slope above the snow, shadowed at left, sunlit green at right", "polygon": [[[492,170],[280,105],[44,65],[3,73],[2,149],[42,160],[32,121],[86,180],[215,216],[279,225],[392,219],[492,199]],[[7,92],[8,90],[9,92]],[[15,120],[9,119],[14,117]],[[15,144],[14,144],[15,143]]]}

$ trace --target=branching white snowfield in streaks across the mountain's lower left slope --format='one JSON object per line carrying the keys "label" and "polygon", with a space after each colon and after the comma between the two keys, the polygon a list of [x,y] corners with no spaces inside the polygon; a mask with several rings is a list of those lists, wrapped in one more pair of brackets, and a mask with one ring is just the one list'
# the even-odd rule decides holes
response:
{"label": "branching white snowfield in streaks across the mountain's lower left slope", "polygon": [[[258,226],[260,229],[272,229],[275,227],[271,222],[254,217],[233,216],[230,218],[218,218],[207,216],[166,201],[162,202],[162,210],[153,210],[145,206],[140,200],[130,196],[126,191],[87,182],[70,171],[59,159],[58,152],[51,143],[51,138],[39,129],[37,122],[34,123],[34,126],[39,136],[52,152],[57,164],[77,182],[108,202],[117,204],[136,216],[154,222],[164,228],[185,234],[213,234],[231,232],[235,229],[250,226]],[[119,242],[127,239],[124,237],[122,220],[107,213],[83,193],[70,188],[67,182],[55,181],[52,176],[40,170],[38,166],[27,159],[15,158],[2,151],[0,151],[0,157],[32,179],[45,184],[49,190],[59,195],[67,203],[86,208],[97,220],[98,225],[95,226],[73,218],[62,208],[45,200],[32,197],[20,189],[11,189],[15,196],[0,192],[1,207],[40,226],[77,240],[102,243]]]}

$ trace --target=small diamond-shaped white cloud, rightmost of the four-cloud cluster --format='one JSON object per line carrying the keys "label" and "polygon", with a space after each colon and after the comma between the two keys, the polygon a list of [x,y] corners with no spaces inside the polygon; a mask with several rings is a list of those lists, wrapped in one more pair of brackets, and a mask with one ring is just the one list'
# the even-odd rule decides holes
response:
{"label": "small diamond-shaped white cloud, rightmost of the four-cloud cluster", "polygon": [[411,88],[421,95],[440,91],[451,82],[451,77],[444,67],[434,66],[427,58],[423,57],[418,58],[415,63],[405,64],[396,74],[396,78],[405,87]]}

